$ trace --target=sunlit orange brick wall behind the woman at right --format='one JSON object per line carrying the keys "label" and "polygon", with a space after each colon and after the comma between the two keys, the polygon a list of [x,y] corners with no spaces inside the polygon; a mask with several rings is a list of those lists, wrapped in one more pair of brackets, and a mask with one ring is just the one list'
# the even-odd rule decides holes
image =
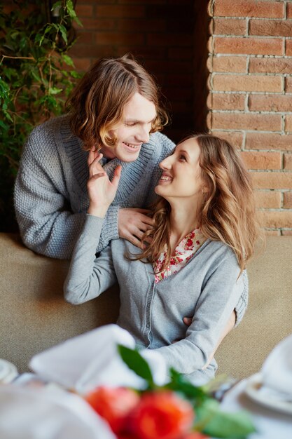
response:
{"label": "sunlit orange brick wall behind the woman at right", "polygon": [[292,234],[292,2],[209,2],[208,128],[242,150],[267,234]]}

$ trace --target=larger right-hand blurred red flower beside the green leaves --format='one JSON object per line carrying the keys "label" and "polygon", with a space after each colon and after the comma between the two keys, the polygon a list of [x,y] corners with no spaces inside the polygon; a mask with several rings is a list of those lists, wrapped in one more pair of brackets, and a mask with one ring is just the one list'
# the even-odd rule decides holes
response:
{"label": "larger right-hand blurred red flower beside the green leaves", "polygon": [[139,439],[178,439],[193,424],[193,407],[172,391],[144,393],[131,419]]}

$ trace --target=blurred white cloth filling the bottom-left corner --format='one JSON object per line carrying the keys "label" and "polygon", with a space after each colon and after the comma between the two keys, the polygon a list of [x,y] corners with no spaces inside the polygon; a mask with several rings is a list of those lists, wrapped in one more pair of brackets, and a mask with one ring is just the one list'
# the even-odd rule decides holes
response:
{"label": "blurred white cloth filling the bottom-left corner", "polygon": [[0,386],[0,438],[115,439],[80,396],[48,389]]}

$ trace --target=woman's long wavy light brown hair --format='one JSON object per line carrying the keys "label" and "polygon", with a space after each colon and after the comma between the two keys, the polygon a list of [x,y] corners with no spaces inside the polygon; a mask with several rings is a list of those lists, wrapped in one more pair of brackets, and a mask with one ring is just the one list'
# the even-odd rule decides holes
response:
{"label": "woman's long wavy light brown hair", "polygon": [[[197,140],[201,150],[200,168],[204,190],[198,209],[200,229],[205,238],[221,241],[234,250],[242,272],[253,255],[256,239],[260,235],[251,176],[239,151],[226,140],[199,134],[186,137],[183,141],[192,138]],[[141,255],[135,255],[134,259],[155,262],[167,245],[166,267],[171,257],[171,207],[165,198],[160,198],[153,212],[153,229],[143,237],[143,240],[151,237],[151,244]]]}

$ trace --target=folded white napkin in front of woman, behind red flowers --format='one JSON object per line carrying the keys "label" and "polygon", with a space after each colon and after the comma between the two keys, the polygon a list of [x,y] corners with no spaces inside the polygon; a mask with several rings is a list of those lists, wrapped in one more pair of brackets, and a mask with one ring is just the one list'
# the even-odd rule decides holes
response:
{"label": "folded white napkin in front of woman, behind red flowers", "polygon": [[[117,345],[134,349],[129,332],[118,325],[105,325],[73,337],[38,353],[29,367],[43,379],[84,394],[99,385],[132,386],[143,389],[144,379],[130,370],[118,353]],[[160,353],[141,351],[151,367],[156,384],[167,381],[167,367]]]}

